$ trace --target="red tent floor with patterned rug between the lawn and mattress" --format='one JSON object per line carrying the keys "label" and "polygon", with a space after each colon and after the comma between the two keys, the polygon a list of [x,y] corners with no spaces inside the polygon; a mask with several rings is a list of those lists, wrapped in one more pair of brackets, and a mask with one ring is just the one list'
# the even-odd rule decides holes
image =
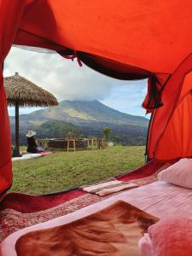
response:
{"label": "red tent floor with patterned rug between the lawn and mattress", "polygon": [[[142,186],[156,181],[157,174],[170,165],[152,160],[137,170],[116,178],[124,181],[137,180]],[[4,195],[0,205],[0,241],[17,230],[75,212],[111,196],[113,195],[100,197],[79,189],[42,196],[10,192]]]}

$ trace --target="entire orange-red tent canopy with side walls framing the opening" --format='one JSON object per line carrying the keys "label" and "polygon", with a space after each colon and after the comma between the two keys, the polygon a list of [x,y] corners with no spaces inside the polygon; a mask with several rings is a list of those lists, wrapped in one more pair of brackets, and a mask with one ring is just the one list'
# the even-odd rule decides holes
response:
{"label": "entire orange-red tent canopy with side walls framing the opening", "polygon": [[12,180],[3,61],[12,44],[54,49],[115,79],[148,78],[148,159],[192,155],[190,0],[0,0],[0,192]]}

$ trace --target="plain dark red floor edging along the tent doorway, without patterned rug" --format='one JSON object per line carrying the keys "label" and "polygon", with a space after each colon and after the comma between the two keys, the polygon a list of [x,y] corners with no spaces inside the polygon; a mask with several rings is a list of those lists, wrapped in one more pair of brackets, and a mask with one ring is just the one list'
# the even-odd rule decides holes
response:
{"label": "plain dark red floor edging along the tent doorway, without patterned rug", "polygon": [[[122,181],[130,181],[138,178],[148,177],[153,175],[154,172],[164,165],[165,162],[151,160],[146,165],[137,168],[137,170],[125,173],[116,178]],[[86,192],[79,189],[61,192],[61,194],[55,195],[27,195],[10,192],[3,195],[3,199],[0,203],[0,211],[6,208],[23,213],[44,211],[51,207],[59,206],[64,202],[70,201],[84,194],[86,194]]]}

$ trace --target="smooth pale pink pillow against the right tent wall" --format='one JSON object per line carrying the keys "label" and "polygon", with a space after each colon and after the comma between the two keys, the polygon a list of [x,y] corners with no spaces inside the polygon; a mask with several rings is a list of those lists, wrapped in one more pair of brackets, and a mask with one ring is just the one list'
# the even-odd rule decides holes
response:
{"label": "smooth pale pink pillow against the right tent wall", "polygon": [[158,180],[192,189],[192,159],[183,158],[158,174]]}

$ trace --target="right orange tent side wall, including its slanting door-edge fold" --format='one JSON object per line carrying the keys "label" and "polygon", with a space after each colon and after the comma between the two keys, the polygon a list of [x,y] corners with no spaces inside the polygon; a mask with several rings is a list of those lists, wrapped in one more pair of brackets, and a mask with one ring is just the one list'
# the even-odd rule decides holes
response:
{"label": "right orange tent side wall, including its slanting door-edge fold", "polygon": [[[190,108],[189,97],[187,98],[186,103],[185,99],[183,99],[184,105],[182,104],[180,107],[177,107],[183,95],[188,94],[189,90],[191,90],[191,71],[192,54],[189,55],[177,68],[175,73],[172,74],[172,77],[168,80],[165,89],[163,90],[162,102],[164,103],[164,106],[163,108],[154,110],[153,121],[149,127],[149,159],[171,160],[192,156],[191,148],[187,146],[192,143],[189,134],[189,127],[192,125],[192,119],[190,118],[192,108]],[[185,119],[185,123],[183,123],[183,119]],[[175,125],[175,132],[171,129],[172,125]],[[166,129],[169,129],[169,132],[166,131]],[[180,143],[178,143],[179,140]],[[172,147],[172,150],[167,150],[167,148],[170,147]],[[175,153],[172,154],[172,151]]]}

